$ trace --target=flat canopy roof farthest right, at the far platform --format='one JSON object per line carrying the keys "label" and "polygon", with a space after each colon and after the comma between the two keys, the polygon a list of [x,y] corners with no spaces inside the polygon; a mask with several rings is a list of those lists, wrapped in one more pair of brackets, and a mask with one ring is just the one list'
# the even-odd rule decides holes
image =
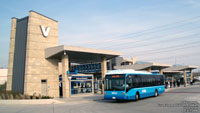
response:
{"label": "flat canopy roof farthest right, at the far platform", "polygon": [[163,71],[183,71],[183,70],[192,70],[197,68],[198,66],[172,66],[164,69]]}

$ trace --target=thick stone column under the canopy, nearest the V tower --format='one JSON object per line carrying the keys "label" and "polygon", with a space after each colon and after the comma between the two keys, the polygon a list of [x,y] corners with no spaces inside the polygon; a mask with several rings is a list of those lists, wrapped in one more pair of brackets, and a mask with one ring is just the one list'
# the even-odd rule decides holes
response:
{"label": "thick stone column under the canopy, nearest the V tower", "polygon": [[62,80],[63,80],[63,97],[70,97],[70,81],[67,77],[67,71],[69,70],[69,58],[68,55],[62,56]]}

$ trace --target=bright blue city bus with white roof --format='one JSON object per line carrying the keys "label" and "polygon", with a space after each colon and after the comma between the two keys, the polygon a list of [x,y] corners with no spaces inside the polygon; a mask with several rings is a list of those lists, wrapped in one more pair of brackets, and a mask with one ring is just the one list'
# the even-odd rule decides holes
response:
{"label": "bright blue city bus with white roof", "polygon": [[104,99],[139,100],[158,96],[165,91],[164,75],[135,70],[113,70],[106,73]]}

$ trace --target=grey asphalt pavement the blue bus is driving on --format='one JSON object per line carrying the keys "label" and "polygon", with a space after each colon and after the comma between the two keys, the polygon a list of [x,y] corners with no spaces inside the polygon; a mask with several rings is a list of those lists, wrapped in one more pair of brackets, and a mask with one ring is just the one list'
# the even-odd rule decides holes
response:
{"label": "grey asphalt pavement the blue bus is driving on", "polygon": [[62,104],[0,105],[0,113],[200,113],[200,85],[167,90],[139,101],[103,100],[102,95],[57,99]]}

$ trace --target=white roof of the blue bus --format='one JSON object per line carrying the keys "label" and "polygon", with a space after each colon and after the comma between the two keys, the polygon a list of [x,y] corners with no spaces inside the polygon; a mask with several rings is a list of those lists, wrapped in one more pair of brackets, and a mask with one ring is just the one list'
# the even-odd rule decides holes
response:
{"label": "white roof of the blue bus", "polygon": [[111,70],[106,73],[106,75],[111,75],[111,74],[152,74],[152,73],[145,71],[135,71],[133,69]]}

